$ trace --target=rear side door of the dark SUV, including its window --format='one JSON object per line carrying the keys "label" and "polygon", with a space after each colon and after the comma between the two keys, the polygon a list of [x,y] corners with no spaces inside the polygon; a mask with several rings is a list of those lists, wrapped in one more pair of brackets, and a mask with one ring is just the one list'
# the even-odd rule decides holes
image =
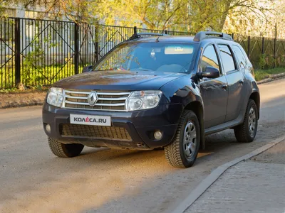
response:
{"label": "rear side door of the dark SUV, including its window", "polygon": [[229,89],[227,116],[225,119],[227,122],[237,119],[242,109],[242,102],[245,98],[242,92],[244,75],[239,68],[236,58],[234,58],[234,50],[226,43],[219,43],[218,46]]}

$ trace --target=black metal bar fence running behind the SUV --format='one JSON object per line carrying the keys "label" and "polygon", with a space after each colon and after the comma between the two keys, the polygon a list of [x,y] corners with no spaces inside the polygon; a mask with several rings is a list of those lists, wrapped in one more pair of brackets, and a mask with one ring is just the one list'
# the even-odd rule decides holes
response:
{"label": "black metal bar fence running behind the SUV", "polygon": [[[50,85],[93,65],[133,33],[195,35],[120,26],[93,26],[71,21],[0,17],[0,89]],[[284,40],[233,35],[254,67],[284,65]]]}

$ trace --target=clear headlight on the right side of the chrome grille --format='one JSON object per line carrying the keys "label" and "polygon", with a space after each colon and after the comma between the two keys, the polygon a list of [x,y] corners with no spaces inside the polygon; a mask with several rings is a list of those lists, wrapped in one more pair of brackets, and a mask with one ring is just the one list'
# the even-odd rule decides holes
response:
{"label": "clear headlight on the right side of the chrome grille", "polygon": [[157,107],[162,92],[159,90],[135,91],[127,100],[128,111]]}

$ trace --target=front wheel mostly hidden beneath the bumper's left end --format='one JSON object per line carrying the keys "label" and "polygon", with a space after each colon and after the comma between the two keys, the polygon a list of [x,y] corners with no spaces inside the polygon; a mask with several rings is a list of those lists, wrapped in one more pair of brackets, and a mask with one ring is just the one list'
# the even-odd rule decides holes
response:
{"label": "front wheel mostly hidden beneath the bumper's left end", "polygon": [[48,145],[52,153],[60,158],[72,158],[80,155],[84,146],[79,143],[64,144],[48,137]]}

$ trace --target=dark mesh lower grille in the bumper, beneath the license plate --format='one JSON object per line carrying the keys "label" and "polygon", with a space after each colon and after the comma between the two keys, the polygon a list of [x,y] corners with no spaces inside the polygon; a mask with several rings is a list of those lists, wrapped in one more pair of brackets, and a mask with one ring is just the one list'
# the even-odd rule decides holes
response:
{"label": "dark mesh lower grille in the bumper, beneath the license plate", "polygon": [[132,141],[127,129],[118,126],[61,124],[59,126],[59,132],[61,136]]}

